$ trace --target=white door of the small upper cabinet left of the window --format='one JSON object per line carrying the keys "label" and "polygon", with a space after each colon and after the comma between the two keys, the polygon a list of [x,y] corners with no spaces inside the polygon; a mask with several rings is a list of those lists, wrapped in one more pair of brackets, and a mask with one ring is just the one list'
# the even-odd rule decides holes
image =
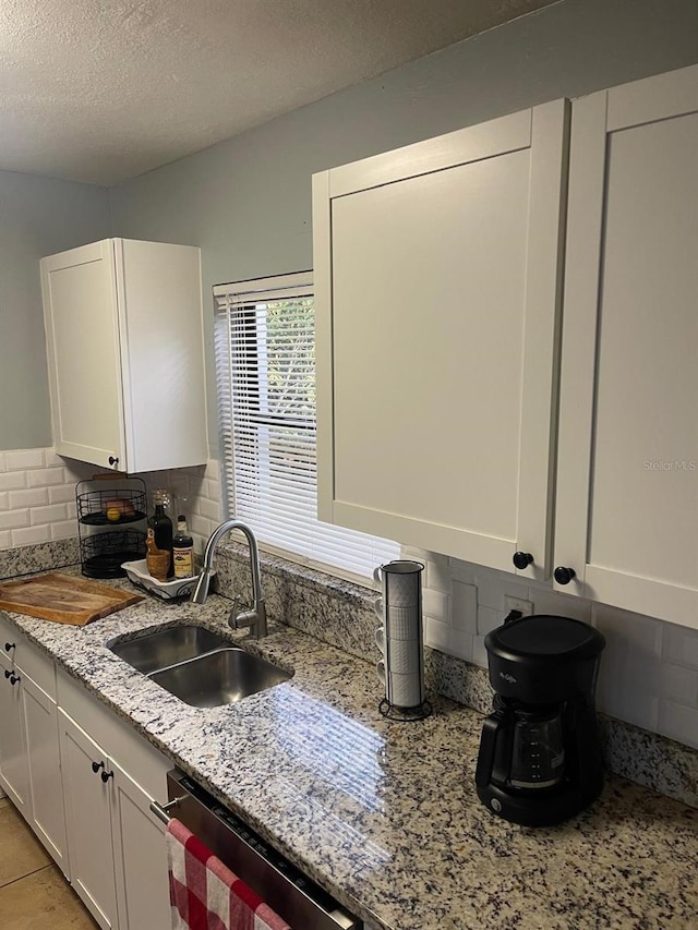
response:
{"label": "white door of the small upper cabinet left of the window", "polygon": [[41,259],[53,445],[113,468],[124,458],[113,245],[104,240]]}

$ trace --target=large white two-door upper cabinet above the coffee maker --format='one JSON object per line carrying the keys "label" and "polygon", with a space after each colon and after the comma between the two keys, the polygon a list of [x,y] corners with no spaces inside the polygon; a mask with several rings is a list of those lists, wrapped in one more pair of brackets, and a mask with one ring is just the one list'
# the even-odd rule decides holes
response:
{"label": "large white two-door upper cabinet above the coffee maker", "polygon": [[698,67],[564,113],[315,177],[320,514],[698,627]]}

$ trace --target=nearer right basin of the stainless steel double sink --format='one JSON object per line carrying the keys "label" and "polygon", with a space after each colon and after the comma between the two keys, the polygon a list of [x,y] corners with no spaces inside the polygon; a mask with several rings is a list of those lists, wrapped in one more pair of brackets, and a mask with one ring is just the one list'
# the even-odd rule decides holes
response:
{"label": "nearer right basin of the stainless steel double sink", "polygon": [[217,708],[288,681],[291,675],[243,649],[230,648],[181,662],[148,677],[188,704]]}

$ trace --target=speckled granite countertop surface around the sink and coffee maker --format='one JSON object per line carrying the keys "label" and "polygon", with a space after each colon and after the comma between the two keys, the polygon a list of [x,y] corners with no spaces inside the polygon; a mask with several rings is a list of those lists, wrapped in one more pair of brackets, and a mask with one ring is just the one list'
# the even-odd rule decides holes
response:
{"label": "speckled granite countertop surface around the sink and coffee maker", "polygon": [[[372,664],[286,626],[256,643],[228,629],[229,607],[216,595],[203,607],[147,599],[82,628],[8,616],[371,925],[698,930],[698,810],[610,776],[600,800],[561,826],[508,824],[476,795],[478,713],[430,696],[429,720],[386,721]],[[185,619],[244,640],[293,678],[200,710],[105,647]]]}

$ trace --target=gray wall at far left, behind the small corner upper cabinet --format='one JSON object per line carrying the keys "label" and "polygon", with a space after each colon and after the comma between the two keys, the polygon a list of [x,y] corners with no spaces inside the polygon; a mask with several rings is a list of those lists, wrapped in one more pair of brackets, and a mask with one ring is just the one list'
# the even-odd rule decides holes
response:
{"label": "gray wall at far left, behind the small corner upper cabinet", "polygon": [[105,188],[0,171],[0,449],[52,442],[39,258],[109,228]]}

